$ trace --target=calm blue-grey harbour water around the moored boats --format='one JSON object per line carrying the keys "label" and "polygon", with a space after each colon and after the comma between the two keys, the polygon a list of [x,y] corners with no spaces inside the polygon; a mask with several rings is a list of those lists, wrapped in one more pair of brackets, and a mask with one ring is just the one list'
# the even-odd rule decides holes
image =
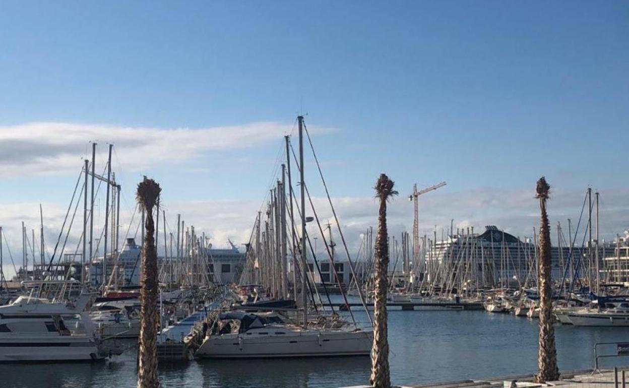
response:
{"label": "calm blue-grey harbour water around the moored boats", "polygon": [[[367,320],[364,313],[355,316]],[[533,373],[537,333],[535,321],[484,311],[389,311],[392,380]],[[591,368],[596,342],[629,341],[626,328],[555,326],[555,333],[561,370]],[[340,387],[367,383],[369,369],[369,357],[202,360],[162,365],[160,381],[164,387]],[[0,365],[0,386],[135,387],[135,352],[96,364]]]}

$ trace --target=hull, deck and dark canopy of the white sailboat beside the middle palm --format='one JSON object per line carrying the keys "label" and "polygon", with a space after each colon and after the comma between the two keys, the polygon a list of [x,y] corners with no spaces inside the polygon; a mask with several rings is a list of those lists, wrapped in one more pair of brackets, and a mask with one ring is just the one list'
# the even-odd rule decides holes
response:
{"label": "hull, deck and dark canopy of the white sailboat beside the middle palm", "polygon": [[373,331],[300,328],[277,315],[220,314],[196,357],[332,357],[369,355]]}

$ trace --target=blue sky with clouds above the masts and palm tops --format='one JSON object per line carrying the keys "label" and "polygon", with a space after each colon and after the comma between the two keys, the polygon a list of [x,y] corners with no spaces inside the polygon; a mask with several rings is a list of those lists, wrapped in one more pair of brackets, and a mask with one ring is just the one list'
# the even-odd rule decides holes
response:
{"label": "blue sky with clouds above the masts and palm tops", "polygon": [[421,233],[454,219],[532,236],[542,175],[553,227],[576,223],[587,187],[602,238],[629,227],[626,1],[5,1],[0,42],[14,257],[40,203],[52,252],[91,142],[101,172],[114,144],[121,229],[148,175],[169,225],[181,213],[216,246],[246,242],[298,114],[353,247],[381,172],[400,192],[392,233],[412,230],[414,183],[446,181],[420,199]]}

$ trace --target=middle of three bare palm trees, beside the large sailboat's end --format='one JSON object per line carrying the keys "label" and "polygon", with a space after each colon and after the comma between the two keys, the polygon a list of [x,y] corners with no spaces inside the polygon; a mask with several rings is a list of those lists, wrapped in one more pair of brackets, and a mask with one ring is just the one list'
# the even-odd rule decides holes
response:
{"label": "middle of three bare palm trees, beside the large sailboat's end", "polygon": [[371,350],[370,384],[376,388],[391,387],[389,374],[389,341],[387,340],[387,289],[389,268],[389,237],[387,233],[387,201],[397,194],[393,181],[381,174],[376,182],[380,200],[378,234],[376,236],[376,285],[374,292],[374,345]]}

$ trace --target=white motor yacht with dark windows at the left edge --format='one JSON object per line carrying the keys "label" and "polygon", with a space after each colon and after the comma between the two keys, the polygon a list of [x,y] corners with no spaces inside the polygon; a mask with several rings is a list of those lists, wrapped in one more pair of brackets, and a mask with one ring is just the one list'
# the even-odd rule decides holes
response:
{"label": "white motor yacht with dark windows at the left edge", "polygon": [[[0,362],[91,361],[104,358],[82,295],[74,306],[20,296],[0,306]],[[71,331],[64,317],[77,317],[85,330]]]}

